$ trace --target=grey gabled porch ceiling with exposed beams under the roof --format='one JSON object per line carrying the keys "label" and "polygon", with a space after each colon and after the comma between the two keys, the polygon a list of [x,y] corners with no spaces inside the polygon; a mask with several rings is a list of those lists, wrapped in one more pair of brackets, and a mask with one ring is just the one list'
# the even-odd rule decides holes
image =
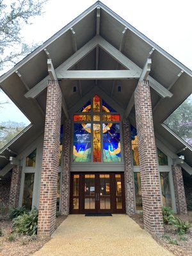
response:
{"label": "grey gabled porch ceiling with exposed beams under the roof", "polygon": [[[95,36],[104,44],[99,44],[100,41],[96,41]],[[49,79],[47,59],[51,59],[60,79],[57,70],[60,70],[61,65],[64,70],[135,70],[135,68],[143,70],[147,58],[152,60],[150,82],[152,84],[155,81],[156,85],[151,88],[155,132],[159,140],[164,141],[167,147],[176,153],[183,147],[183,143],[170,134],[161,123],[192,93],[192,72],[100,1],[1,76],[0,83],[4,92],[33,124],[33,129],[29,129],[23,135],[29,144],[36,138],[36,131],[38,129],[42,131],[44,127],[46,85]],[[124,65],[128,59],[128,64],[133,65],[130,66],[131,68]],[[68,63],[73,65],[70,66]],[[81,80],[60,79],[59,83],[67,111],[93,88],[102,90],[125,111],[138,79],[98,79],[97,77],[97,79]],[[76,92],[74,86],[77,88]],[[120,92],[118,86],[121,86]],[[173,96],[163,99],[157,92],[161,86],[170,94],[173,93]],[[129,118],[134,124],[134,108],[131,108]],[[19,140],[10,145],[13,149],[16,148],[17,152],[20,152]],[[188,148],[183,153],[186,156],[186,163],[192,166],[191,149]],[[5,164],[6,161],[0,158],[0,168]]]}

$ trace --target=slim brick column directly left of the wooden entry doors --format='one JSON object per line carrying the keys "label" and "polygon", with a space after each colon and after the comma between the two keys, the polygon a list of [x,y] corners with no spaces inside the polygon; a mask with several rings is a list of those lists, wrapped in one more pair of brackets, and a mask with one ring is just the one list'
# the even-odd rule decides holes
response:
{"label": "slim brick column directly left of the wooden entry doors", "polygon": [[71,156],[71,134],[72,127],[70,120],[65,120],[63,127],[63,162],[61,178],[61,214],[69,214],[70,201],[70,156]]}

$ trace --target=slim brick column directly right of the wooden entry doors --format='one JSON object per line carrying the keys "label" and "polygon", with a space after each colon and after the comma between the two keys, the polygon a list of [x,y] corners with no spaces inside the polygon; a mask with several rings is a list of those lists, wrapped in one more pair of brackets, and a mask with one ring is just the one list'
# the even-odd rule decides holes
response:
{"label": "slim brick column directly right of the wooden entry doors", "polygon": [[122,132],[124,144],[125,210],[127,214],[134,214],[136,209],[132,171],[131,132],[127,119],[122,120]]}

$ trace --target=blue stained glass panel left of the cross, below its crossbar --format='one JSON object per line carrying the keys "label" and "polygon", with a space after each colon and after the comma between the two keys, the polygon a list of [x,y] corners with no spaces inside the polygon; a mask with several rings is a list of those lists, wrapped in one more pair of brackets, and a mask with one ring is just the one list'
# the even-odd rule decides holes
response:
{"label": "blue stained glass panel left of the cross, below its crossbar", "polygon": [[74,124],[73,161],[91,161],[91,124]]}

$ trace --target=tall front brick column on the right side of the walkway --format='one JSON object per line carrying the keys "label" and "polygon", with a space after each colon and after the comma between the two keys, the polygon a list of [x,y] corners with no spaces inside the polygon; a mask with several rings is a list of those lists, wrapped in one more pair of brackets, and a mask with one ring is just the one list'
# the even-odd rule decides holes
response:
{"label": "tall front brick column on the right side of the walkway", "polygon": [[144,227],[151,234],[163,234],[159,171],[148,81],[139,81],[134,92],[134,101],[140,157]]}

